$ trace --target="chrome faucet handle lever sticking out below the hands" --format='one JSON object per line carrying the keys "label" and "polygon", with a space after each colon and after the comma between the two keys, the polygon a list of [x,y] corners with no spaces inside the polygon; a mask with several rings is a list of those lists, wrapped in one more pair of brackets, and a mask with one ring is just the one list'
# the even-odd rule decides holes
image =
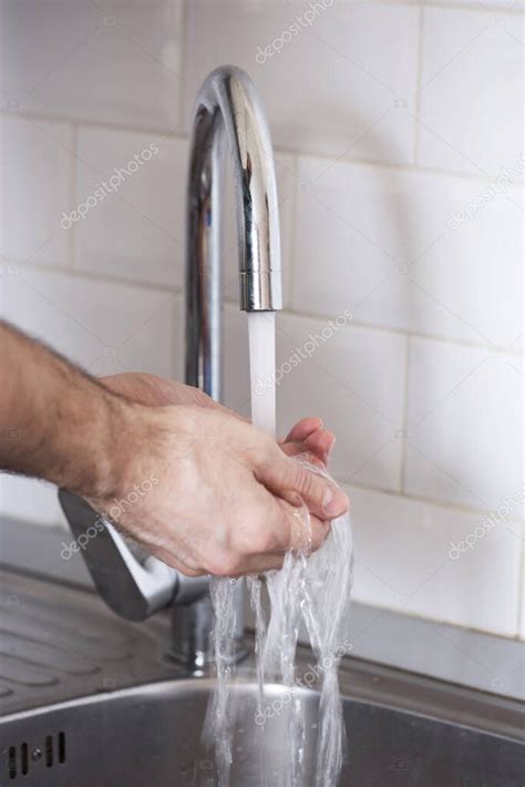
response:
{"label": "chrome faucet handle lever sticking out below the hands", "polygon": [[60,489],[59,500],[99,593],[116,614],[142,621],[175,600],[188,603],[207,592],[207,578],[188,579],[152,555],[138,561],[82,498]]}

